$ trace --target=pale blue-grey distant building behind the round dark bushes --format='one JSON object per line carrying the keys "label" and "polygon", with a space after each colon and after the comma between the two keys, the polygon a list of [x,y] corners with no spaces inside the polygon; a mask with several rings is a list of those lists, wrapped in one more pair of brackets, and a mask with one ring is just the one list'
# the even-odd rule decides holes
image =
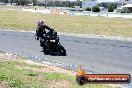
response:
{"label": "pale blue-grey distant building behind the round dark bushes", "polygon": [[87,7],[94,7],[97,5],[97,0],[84,0],[82,1],[82,7],[87,8]]}

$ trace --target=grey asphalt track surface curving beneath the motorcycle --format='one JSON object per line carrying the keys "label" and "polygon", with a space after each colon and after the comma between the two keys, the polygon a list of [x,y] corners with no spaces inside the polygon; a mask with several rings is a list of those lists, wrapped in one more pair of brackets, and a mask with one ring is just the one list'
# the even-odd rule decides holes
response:
{"label": "grey asphalt track surface curving beneath the motorcycle", "polygon": [[[98,73],[132,75],[132,42],[59,35],[67,56],[44,55],[34,33],[0,30],[0,51],[83,66]],[[33,59],[32,59],[33,60]]]}

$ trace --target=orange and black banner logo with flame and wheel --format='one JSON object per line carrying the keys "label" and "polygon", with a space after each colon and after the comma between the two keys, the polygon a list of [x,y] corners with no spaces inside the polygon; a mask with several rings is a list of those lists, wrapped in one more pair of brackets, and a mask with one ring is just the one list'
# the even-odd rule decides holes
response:
{"label": "orange and black banner logo with flame and wheel", "polygon": [[131,76],[129,74],[86,74],[86,71],[79,67],[76,75],[76,81],[82,85],[86,82],[91,83],[130,83]]}

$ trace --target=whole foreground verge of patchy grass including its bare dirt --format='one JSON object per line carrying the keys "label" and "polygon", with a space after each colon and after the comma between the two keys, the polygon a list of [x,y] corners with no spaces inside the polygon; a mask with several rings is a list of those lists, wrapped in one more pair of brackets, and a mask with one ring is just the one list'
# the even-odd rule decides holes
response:
{"label": "whole foreground verge of patchy grass including its bare dirt", "polygon": [[15,60],[2,58],[3,55],[0,57],[0,85],[2,82],[6,84],[2,85],[2,88],[109,88],[106,84],[79,86],[75,76],[61,71],[42,71],[45,66],[28,64],[20,57]]}

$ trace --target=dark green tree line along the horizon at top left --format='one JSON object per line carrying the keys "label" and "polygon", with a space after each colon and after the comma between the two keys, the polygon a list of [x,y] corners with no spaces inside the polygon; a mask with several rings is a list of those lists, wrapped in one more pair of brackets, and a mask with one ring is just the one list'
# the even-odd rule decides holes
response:
{"label": "dark green tree line along the horizon at top left", "polygon": [[74,7],[74,6],[80,6],[82,7],[82,2],[80,0],[77,1],[53,1],[53,0],[44,0],[44,1],[39,1],[39,0],[1,0],[0,2],[4,3],[16,3],[16,5],[22,5],[26,6],[30,3],[33,3],[33,5],[37,6],[45,6],[45,7]]}

